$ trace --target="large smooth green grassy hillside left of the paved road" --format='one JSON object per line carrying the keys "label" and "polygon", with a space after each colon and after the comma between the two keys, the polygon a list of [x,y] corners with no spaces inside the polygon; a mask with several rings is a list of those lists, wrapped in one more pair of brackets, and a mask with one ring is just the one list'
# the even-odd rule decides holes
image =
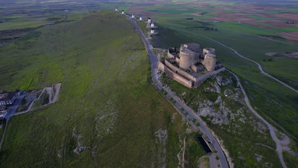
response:
{"label": "large smooth green grassy hillside left of the paved road", "polygon": [[[171,121],[177,112],[148,82],[146,52],[124,16],[93,13],[30,33],[0,52],[6,72],[0,75],[8,79],[1,88],[62,81],[57,103],[11,118],[1,167],[158,166],[159,129],[169,130],[166,164],[177,166],[185,123],[179,115]],[[88,149],[78,155],[78,144]]]}

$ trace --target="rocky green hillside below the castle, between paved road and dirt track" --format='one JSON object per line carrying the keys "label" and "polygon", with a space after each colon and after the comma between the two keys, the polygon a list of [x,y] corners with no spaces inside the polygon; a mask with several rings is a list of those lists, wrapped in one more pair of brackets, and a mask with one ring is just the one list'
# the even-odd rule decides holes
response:
{"label": "rocky green hillside below the castle, between paved road and dirt track", "polygon": [[[221,85],[221,93],[217,93],[214,82],[221,77],[222,83],[228,84]],[[269,130],[246,107],[237,81],[229,72],[209,78],[197,89],[186,88],[164,73],[161,78],[223,140],[235,167],[266,166],[267,162],[273,167],[280,166]]]}

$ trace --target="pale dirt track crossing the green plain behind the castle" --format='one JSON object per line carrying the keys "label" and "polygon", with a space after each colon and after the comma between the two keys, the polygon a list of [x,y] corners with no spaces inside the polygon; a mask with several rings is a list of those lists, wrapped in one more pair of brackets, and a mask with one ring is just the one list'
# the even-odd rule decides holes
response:
{"label": "pale dirt track crossing the green plain behind the castle", "polygon": [[220,45],[222,45],[223,47],[232,50],[235,54],[237,54],[237,55],[240,56],[241,58],[244,58],[244,59],[246,59],[246,60],[252,61],[252,62],[254,62],[255,64],[257,64],[262,74],[264,74],[264,75],[266,75],[266,76],[268,76],[268,77],[271,77],[272,79],[274,79],[274,80],[278,81],[279,83],[281,83],[283,86],[285,86],[285,87],[291,89],[292,91],[298,93],[297,90],[295,90],[294,88],[290,87],[289,85],[287,85],[287,84],[284,83],[283,81],[280,81],[279,79],[277,79],[277,78],[271,76],[270,74],[266,73],[266,72],[263,70],[262,66],[261,66],[259,63],[257,63],[257,62],[254,61],[254,60],[251,60],[251,59],[249,59],[249,58],[243,57],[243,56],[240,55],[238,52],[236,52],[234,49],[232,49],[232,48],[230,48],[230,47],[228,47],[228,46],[226,46],[226,45],[224,45],[224,44],[222,44],[222,43],[219,43],[218,41],[216,41],[216,40],[214,40],[214,39],[211,39],[211,38],[209,38],[209,37],[206,37],[206,36],[203,36],[203,35],[194,34],[194,33],[192,33],[192,32],[185,31],[185,30],[178,29],[178,28],[174,28],[174,27],[171,27],[171,28],[176,29],[176,30],[180,30],[180,31],[184,31],[184,32],[187,32],[187,33],[190,33],[190,34],[193,34],[193,35],[197,35],[197,36],[200,36],[200,37],[204,37],[204,38],[207,38],[207,39],[210,39],[210,40],[214,41],[215,43],[220,44]]}

